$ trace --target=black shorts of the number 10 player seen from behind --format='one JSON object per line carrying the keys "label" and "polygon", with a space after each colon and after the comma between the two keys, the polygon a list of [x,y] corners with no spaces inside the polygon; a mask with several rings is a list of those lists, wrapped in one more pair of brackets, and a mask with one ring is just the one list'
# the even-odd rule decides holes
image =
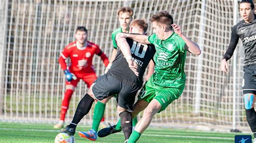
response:
{"label": "black shorts of the number 10 player seen from behind", "polygon": [[98,77],[92,87],[92,92],[99,101],[118,94],[117,104],[120,107],[131,111],[133,111],[132,106],[138,90],[139,86],[127,85],[106,74]]}

